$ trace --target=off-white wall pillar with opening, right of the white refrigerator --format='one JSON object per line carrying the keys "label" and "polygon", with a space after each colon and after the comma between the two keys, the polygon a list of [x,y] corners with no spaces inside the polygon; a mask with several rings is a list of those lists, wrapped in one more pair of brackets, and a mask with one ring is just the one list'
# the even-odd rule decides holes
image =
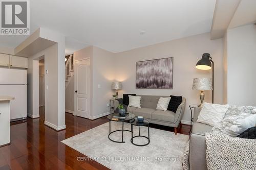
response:
{"label": "off-white wall pillar with opening, right of the white refrigerator", "polygon": [[[33,109],[39,107],[39,102],[37,102],[39,92],[33,93],[35,89],[39,91],[38,61],[36,60],[44,56],[45,71],[49,71],[49,74],[45,74],[45,125],[55,130],[65,129],[65,37],[51,30],[40,28],[39,38],[56,43],[29,57],[29,72],[32,72],[32,76],[29,76],[28,106],[32,105]],[[37,62],[37,68],[31,65],[34,61]],[[32,98],[31,94],[33,94]],[[34,115],[35,111],[33,110],[30,114]]]}

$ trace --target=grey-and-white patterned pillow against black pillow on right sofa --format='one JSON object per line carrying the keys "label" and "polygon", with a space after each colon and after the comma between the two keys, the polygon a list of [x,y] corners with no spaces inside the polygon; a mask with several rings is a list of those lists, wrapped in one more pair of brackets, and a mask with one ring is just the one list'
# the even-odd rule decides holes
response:
{"label": "grey-and-white patterned pillow against black pillow on right sofa", "polygon": [[222,132],[231,137],[237,137],[246,129],[255,126],[256,114],[231,115],[225,117],[212,131]]}

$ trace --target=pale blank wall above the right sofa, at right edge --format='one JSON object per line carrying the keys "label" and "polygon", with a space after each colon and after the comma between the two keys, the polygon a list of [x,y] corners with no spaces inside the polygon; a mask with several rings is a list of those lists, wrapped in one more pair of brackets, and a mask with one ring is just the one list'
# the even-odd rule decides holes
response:
{"label": "pale blank wall above the right sofa, at right edge", "polygon": [[256,26],[227,31],[227,102],[256,106]]}

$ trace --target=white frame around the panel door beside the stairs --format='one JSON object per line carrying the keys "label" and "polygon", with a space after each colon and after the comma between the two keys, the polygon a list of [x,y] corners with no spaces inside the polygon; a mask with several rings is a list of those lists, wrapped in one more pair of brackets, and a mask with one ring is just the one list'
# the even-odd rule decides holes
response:
{"label": "white frame around the panel door beside the stairs", "polygon": [[91,117],[91,58],[84,58],[84,59],[80,59],[80,60],[75,60],[74,61],[74,89],[73,89],[73,93],[74,93],[74,113],[73,115],[76,116],[76,93],[75,93],[75,90],[76,90],[76,87],[77,87],[77,84],[76,84],[76,79],[77,79],[77,64],[76,62],[77,61],[83,61],[83,60],[89,60],[89,80],[90,80],[90,83],[89,83],[89,90],[88,90],[88,94],[89,94],[89,98],[88,98],[88,102],[89,102],[89,109],[88,109],[88,112],[89,112],[89,117],[88,119],[90,119]]}

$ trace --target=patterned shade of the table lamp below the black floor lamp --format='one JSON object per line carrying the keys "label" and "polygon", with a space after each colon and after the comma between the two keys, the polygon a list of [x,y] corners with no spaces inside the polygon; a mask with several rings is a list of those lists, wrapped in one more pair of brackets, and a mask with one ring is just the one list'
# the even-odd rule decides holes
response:
{"label": "patterned shade of the table lamp below the black floor lamp", "polygon": [[211,78],[194,78],[193,90],[212,90]]}

